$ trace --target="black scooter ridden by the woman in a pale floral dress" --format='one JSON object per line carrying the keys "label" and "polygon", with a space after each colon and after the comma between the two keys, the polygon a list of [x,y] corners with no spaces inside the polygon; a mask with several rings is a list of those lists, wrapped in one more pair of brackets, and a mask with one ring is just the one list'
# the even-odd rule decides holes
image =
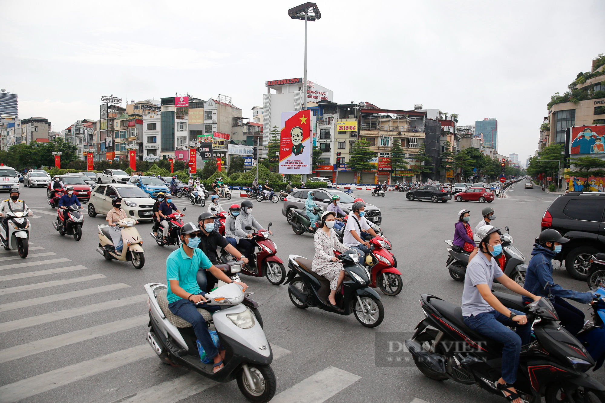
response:
{"label": "black scooter ridden by the woman in a pale floral dress", "polygon": [[330,281],[311,270],[312,261],[299,255],[289,255],[288,295],[295,307],[307,309],[317,307],[339,315],[351,315],[365,327],[376,327],[384,319],[384,307],[380,296],[370,288],[370,273],[359,263],[355,249],[349,249],[340,255],[339,260],[345,271],[342,289],[336,292],[338,308],[332,307],[328,300]]}

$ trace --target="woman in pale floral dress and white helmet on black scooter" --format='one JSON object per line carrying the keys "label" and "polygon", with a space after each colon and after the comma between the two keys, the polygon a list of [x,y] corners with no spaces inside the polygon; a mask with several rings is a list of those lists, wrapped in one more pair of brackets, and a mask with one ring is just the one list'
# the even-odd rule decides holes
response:
{"label": "woman in pale floral dress and white helmet on black scooter", "polygon": [[328,300],[332,307],[336,306],[336,290],[344,280],[344,267],[335,257],[333,249],[338,252],[346,252],[349,247],[344,246],[336,237],[336,232],[332,229],[336,215],[333,211],[324,212],[321,215],[321,227],[315,232],[313,237],[313,246],[315,246],[315,257],[311,264],[311,270],[327,278],[330,281],[330,295]]}

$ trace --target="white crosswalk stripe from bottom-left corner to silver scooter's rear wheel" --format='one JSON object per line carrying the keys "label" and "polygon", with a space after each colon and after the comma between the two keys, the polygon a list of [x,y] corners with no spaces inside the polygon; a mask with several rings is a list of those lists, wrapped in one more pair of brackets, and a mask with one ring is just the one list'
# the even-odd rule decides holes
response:
{"label": "white crosswalk stripe from bottom-left corner to silver scooter's rear wheel", "polygon": [[152,356],[155,356],[154,350],[145,343],[21,379],[21,381],[0,387],[0,403],[13,403]]}

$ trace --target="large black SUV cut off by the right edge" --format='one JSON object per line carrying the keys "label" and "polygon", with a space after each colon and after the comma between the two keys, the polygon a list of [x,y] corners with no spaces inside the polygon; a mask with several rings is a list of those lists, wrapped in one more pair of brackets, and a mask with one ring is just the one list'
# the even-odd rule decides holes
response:
{"label": "large black SUV cut off by the right edge", "polygon": [[590,257],[605,251],[605,193],[569,192],[548,206],[542,217],[542,231],[556,229],[571,241],[555,257],[565,260],[567,272],[586,280]]}

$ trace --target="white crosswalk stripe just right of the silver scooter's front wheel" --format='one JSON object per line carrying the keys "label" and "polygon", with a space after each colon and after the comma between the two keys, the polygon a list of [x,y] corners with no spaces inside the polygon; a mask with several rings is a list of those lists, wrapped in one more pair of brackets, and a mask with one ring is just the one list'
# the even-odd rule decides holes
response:
{"label": "white crosswalk stripe just right of the silver scooter's front wheel", "polygon": [[287,388],[271,399],[273,403],[321,403],[361,379],[361,376],[336,367],[327,367]]}

